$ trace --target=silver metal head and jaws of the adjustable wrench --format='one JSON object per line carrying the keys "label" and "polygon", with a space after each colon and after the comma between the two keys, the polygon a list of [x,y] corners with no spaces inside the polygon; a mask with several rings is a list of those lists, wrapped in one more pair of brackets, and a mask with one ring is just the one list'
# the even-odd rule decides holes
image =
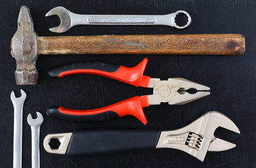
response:
{"label": "silver metal head and jaws of the adjustable wrench", "polygon": [[214,136],[217,127],[240,134],[238,127],[229,118],[217,111],[210,111],[186,127],[161,132],[156,148],[175,148],[203,162],[207,151],[226,151],[236,147],[236,144]]}

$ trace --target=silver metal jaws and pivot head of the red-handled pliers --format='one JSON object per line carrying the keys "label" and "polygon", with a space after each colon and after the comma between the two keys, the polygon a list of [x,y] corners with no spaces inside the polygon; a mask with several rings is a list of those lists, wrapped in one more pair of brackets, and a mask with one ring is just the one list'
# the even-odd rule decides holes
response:
{"label": "silver metal jaws and pivot head of the red-handled pliers", "polygon": [[[149,105],[161,104],[161,102],[182,105],[210,94],[209,87],[184,78],[169,78],[168,80],[150,78],[148,87],[154,88],[153,94],[147,96]],[[196,93],[187,92],[189,89],[196,90]]]}

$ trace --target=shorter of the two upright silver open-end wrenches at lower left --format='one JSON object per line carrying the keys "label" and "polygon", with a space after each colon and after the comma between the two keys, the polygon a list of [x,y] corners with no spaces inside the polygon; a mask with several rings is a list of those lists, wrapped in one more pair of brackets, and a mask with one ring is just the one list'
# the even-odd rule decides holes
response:
{"label": "shorter of the two upright silver open-end wrenches at lower left", "polygon": [[43,123],[43,116],[39,112],[36,112],[36,115],[36,119],[33,119],[31,114],[27,116],[27,123],[31,126],[32,134],[32,168],[40,167],[39,137],[40,126],[41,123]]}

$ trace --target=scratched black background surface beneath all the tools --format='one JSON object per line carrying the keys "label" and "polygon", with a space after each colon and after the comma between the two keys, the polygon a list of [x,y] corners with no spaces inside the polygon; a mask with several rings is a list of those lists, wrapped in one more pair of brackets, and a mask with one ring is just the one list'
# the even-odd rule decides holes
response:
{"label": "scratched black background surface beneath all the tools", "polygon": [[[245,36],[246,50],[238,56],[206,55],[40,55],[36,63],[39,83],[34,86],[15,85],[15,59],[11,57],[11,37],[17,29],[20,6],[32,12],[34,29],[39,36],[103,35],[103,34],[215,34],[238,33]],[[58,17],[44,15],[55,6],[65,6],[75,13],[86,14],[166,14],[186,10],[192,18],[187,29],[161,26],[81,26],[65,34],[54,34],[49,27],[58,26]],[[20,88],[27,92],[23,115],[23,167],[31,167],[31,131],[27,115],[40,111],[41,167],[256,167],[256,1],[251,0],[3,0],[0,5],[0,167],[13,167],[13,105],[10,94]],[[123,117],[103,123],[68,123],[46,116],[49,106],[69,109],[95,109],[128,99],[137,94],[151,94],[148,88],[95,75],[66,76],[52,79],[50,67],[77,61],[112,62],[134,66],[144,57],[149,59],[144,74],[167,79],[183,77],[211,88],[211,94],[182,106],[149,106],[144,108],[148,124],[133,117]],[[217,110],[231,118],[241,134],[217,130],[217,137],[231,141],[236,148],[219,153],[208,153],[204,162],[187,153],[171,149],[137,151],[113,155],[68,158],[52,155],[43,149],[43,138],[55,132],[94,128],[156,128],[173,130],[191,123],[206,111]]]}

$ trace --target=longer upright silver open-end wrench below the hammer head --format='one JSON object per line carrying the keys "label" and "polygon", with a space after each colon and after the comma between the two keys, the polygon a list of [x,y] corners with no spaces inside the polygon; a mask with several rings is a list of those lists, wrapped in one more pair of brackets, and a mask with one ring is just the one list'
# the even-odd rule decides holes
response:
{"label": "longer upright silver open-end wrench below the hammer head", "polygon": [[23,90],[20,92],[20,97],[15,97],[14,92],[11,92],[11,102],[13,102],[14,108],[13,168],[21,168],[22,166],[22,115],[27,94]]}

